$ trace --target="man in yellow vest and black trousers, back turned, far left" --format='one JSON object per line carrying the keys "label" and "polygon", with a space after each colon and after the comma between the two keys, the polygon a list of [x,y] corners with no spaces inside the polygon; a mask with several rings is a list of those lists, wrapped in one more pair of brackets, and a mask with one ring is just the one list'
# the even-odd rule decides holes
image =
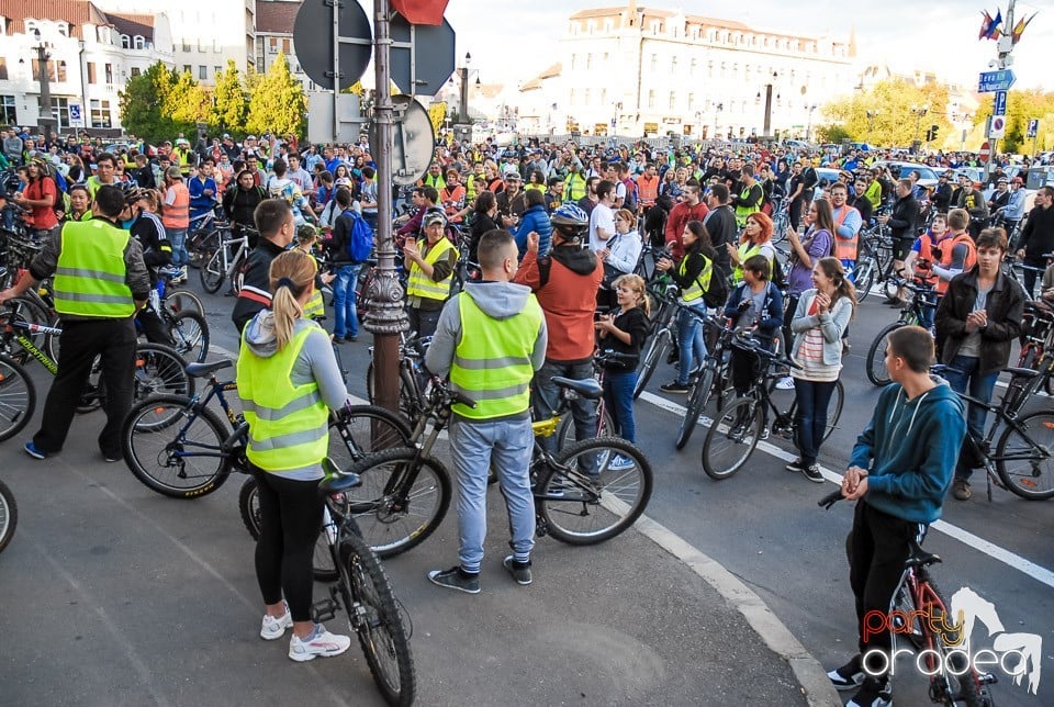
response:
{"label": "man in yellow vest and black trousers, back turned, far left", "polygon": [[29,277],[0,292],[3,304],[55,278],[55,311],[63,326],[58,373],[47,393],[41,429],[25,444],[34,459],[63,449],[97,356],[102,358],[106,385],[106,425],[99,434],[99,449],[106,461],[122,458],[121,424],[132,406],[135,371],[132,317],[150,292],[143,247],[117,224],[124,203],[120,189],[100,187],[91,204],[94,217],[64,224],[33,259]]}

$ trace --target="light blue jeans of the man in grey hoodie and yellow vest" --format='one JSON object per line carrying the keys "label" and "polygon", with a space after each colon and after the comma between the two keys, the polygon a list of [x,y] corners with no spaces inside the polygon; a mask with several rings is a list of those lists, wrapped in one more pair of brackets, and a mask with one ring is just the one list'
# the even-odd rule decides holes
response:
{"label": "light blue jeans of the man in grey hoodie and yellow vest", "polygon": [[486,538],[486,478],[493,467],[502,486],[514,559],[528,562],[535,547],[535,498],[530,493],[530,456],[535,435],[530,420],[466,422],[450,425],[450,449],[458,474],[458,560],[466,572],[479,572]]}

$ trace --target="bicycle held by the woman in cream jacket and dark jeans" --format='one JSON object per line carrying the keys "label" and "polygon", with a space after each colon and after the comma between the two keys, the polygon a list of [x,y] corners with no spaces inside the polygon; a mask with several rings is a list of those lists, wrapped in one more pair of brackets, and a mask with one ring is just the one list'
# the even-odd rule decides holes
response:
{"label": "bicycle held by the woman in cream jacket and dark jeans", "polygon": [[[743,333],[733,336],[730,346],[754,354],[760,359],[760,366],[751,391],[743,397],[726,402],[720,408],[720,416],[706,431],[706,439],[703,441],[703,470],[715,481],[730,478],[747,463],[754,448],[758,447],[759,440],[762,439],[764,419],[769,411],[775,415],[772,428],[781,437],[794,439],[797,427],[795,420],[797,400],[786,412],[780,412],[772,400],[772,390],[778,375],[770,372],[770,369],[801,367],[766,349],[756,339]],[[838,426],[844,397],[845,391],[839,380],[834,384],[834,393],[828,404],[823,439],[827,439]]]}

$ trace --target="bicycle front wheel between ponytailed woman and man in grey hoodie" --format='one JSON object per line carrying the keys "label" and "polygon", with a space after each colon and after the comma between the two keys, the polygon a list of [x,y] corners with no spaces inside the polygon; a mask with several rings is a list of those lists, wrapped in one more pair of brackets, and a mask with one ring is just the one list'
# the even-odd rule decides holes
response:
{"label": "bicycle front wheel between ponytailed woman and man in grey hoodie", "polygon": [[381,558],[405,552],[430,536],[450,506],[450,473],[442,462],[417,450],[385,449],[368,454],[350,471],[362,485],[345,492],[362,538]]}

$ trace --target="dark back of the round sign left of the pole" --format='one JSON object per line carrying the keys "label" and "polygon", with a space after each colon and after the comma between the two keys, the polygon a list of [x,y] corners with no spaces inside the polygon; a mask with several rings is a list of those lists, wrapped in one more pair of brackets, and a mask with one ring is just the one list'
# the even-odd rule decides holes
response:
{"label": "dark back of the round sign left of the pole", "polygon": [[[337,27],[340,40],[338,88],[346,89],[362,76],[373,54],[373,34],[366,11],[358,2],[339,3]],[[312,81],[333,89],[333,3],[304,0],[293,23],[296,59]]]}

